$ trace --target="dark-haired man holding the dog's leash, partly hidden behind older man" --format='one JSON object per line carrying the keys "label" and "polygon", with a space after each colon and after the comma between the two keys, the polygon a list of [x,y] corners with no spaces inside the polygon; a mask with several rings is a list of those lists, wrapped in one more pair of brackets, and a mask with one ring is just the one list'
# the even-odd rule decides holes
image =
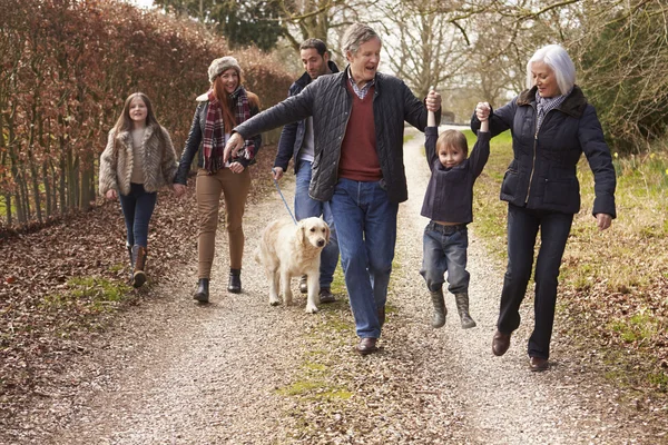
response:
{"label": "dark-haired man holding the dog's leash, partly hidden behind older man", "polygon": [[[321,76],[338,72],[338,67],[330,60],[330,51],[327,51],[327,46],[322,40],[307,39],[303,41],[299,46],[299,57],[306,71],[289,87],[288,97],[298,95],[308,83]],[[338,263],[338,241],[336,240],[336,226],[334,225],[330,202],[318,201],[308,196],[312,177],[311,166],[314,156],[313,117],[308,117],[283,127],[273,171],[274,179],[279,180],[287,170],[289,159],[294,158],[296,176],[295,218],[302,220],[322,215],[323,219],[330,225],[330,243],[321,254],[320,301],[334,303],[335,298],[331,291],[331,286]],[[305,294],[306,290],[306,276],[303,276],[299,281],[299,291]]]}

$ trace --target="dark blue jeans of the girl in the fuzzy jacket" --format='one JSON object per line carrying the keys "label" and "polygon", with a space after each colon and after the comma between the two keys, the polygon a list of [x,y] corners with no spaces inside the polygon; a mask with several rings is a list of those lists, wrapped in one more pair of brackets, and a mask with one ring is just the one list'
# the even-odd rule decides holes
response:
{"label": "dark blue jeans of the girl in the fuzzy jacket", "polygon": [[128,246],[148,247],[148,222],[158,200],[158,194],[149,194],[141,184],[130,184],[129,195],[118,195],[128,230]]}

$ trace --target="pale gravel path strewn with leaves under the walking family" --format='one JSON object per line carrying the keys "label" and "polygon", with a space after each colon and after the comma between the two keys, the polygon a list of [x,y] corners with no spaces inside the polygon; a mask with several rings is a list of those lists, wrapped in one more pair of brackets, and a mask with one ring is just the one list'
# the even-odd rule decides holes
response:
{"label": "pale gravel path strewn with leaves under the walking family", "polygon": [[[271,307],[253,260],[258,234],[285,212],[276,194],[247,209],[244,293],[225,291],[226,235],[217,241],[213,304],[189,295],[186,265],[151,290],[158,298],[120,317],[23,423],[39,444],[625,444],[659,443],[655,425],[621,412],[615,388],[559,332],[552,368],[528,369],[532,316],[502,357],[491,337],[502,265],[470,231],[471,313],[462,330],[452,296],[446,326],[431,329],[422,277],[422,190],[429,170],[418,135],[405,147],[411,199],[400,207],[396,267],[379,354],[358,357],[347,303],[304,313]],[[291,201],[294,184],[283,182]],[[293,283],[296,290],[296,280]],[[665,428],[665,427],[662,427]],[[659,428],[660,429],[660,428]],[[664,431],[665,434],[665,431]]]}

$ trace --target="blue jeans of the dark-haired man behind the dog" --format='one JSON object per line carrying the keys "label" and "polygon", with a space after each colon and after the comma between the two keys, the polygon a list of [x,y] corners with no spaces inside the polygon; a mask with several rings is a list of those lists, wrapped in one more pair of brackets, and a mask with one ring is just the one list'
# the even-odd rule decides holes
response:
{"label": "blue jeans of the dark-haired man behind the dog", "polygon": [[336,239],[336,230],[334,225],[334,216],[332,215],[332,206],[330,202],[322,202],[308,196],[308,186],[311,185],[311,165],[308,160],[299,160],[297,168],[296,186],[295,186],[295,218],[297,220],[310,218],[312,216],[323,216],[325,222],[330,225],[330,243],[325,246],[321,254],[321,288],[330,288],[334,278],[334,270],[338,263],[338,241]]}

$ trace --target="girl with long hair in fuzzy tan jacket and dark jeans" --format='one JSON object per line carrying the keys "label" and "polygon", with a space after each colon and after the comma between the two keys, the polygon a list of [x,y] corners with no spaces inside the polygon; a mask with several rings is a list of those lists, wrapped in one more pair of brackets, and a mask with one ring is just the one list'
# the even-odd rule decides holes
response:
{"label": "girl with long hair in fuzzy tan jacket and dark jeans", "polygon": [[146,281],[148,222],[157,190],[171,184],[176,169],[171,139],[158,123],[150,100],[143,92],[130,95],[100,157],[99,189],[107,199],[120,198],[134,287]]}

